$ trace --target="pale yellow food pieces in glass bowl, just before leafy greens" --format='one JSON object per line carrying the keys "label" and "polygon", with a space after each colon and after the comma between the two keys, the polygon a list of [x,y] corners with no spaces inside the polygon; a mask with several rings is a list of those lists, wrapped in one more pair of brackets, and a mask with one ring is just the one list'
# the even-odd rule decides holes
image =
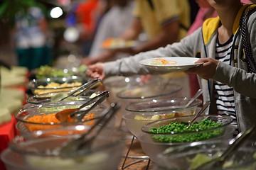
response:
{"label": "pale yellow food pieces in glass bowl, just before leafy greens", "polygon": [[[63,83],[58,84],[55,82],[50,82],[46,86],[40,85],[35,89],[34,94],[48,94],[55,91],[70,91],[70,89],[73,89],[74,87],[81,86],[81,82],[73,82],[73,83]],[[70,87],[70,88],[68,88]]]}

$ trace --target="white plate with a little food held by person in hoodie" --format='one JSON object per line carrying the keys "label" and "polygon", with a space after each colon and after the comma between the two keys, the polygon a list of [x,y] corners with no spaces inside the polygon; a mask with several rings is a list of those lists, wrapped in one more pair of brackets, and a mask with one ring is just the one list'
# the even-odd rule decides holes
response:
{"label": "white plate with a little food held by person in hoodie", "polygon": [[[156,59],[164,59],[171,63],[175,64],[154,64],[154,60]],[[142,64],[146,67],[149,67],[150,69],[154,69],[157,71],[163,71],[163,72],[178,72],[178,71],[186,71],[187,69],[190,69],[192,67],[197,67],[203,63],[196,63],[196,60],[198,58],[195,57],[157,57],[157,58],[151,58],[142,60],[139,62],[139,64]]]}

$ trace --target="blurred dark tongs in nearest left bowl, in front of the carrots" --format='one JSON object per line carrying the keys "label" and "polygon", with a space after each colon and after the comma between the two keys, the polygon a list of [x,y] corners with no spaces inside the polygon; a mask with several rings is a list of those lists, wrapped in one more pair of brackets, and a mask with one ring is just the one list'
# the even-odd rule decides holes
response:
{"label": "blurred dark tongs in nearest left bowl, in front of the carrots", "polygon": [[79,156],[82,154],[86,154],[90,152],[91,144],[100,133],[100,131],[107,125],[109,120],[113,117],[114,113],[119,109],[119,104],[112,103],[111,108],[107,113],[105,113],[95,125],[90,128],[87,132],[80,135],[80,137],[76,138],[75,140],[70,140],[65,142],[58,148],[58,155],[60,157],[70,157],[70,156]]}

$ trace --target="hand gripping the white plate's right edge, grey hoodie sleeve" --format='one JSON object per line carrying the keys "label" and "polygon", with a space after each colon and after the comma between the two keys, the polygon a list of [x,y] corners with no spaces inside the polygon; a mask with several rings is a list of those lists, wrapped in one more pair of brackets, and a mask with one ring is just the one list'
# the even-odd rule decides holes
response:
{"label": "hand gripping the white plate's right edge, grey hoodie sleeve", "polygon": [[192,74],[198,74],[199,77],[203,79],[211,79],[213,78],[213,75],[215,73],[215,69],[218,65],[218,60],[215,60],[213,58],[201,58],[197,60],[195,63],[201,63],[198,67],[193,67],[191,69],[188,69],[187,73]]}

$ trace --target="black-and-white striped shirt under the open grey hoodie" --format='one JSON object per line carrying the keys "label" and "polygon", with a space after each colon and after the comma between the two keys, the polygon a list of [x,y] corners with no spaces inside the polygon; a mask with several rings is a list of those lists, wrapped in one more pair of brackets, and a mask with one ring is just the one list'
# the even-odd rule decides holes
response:
{"label": "black-and-white striped shirt under the open grey hoodie", "polygon": [[[220,44],[217,40],[216,42],[216,51],[215,59],[225,64],[230,64],[230,52],[233,45],[233,35],[230,39],[224,44]],[[217,105],[218,113],[221,115],[230,115],[233,118],[233,125],[238,129],[236,115],[235,115],[235,97],[233,87],[230,87],[226,84],[214,81],[213,83],[215,88],[215,100]],[[237,133],[237,132],[236,132]]]}

